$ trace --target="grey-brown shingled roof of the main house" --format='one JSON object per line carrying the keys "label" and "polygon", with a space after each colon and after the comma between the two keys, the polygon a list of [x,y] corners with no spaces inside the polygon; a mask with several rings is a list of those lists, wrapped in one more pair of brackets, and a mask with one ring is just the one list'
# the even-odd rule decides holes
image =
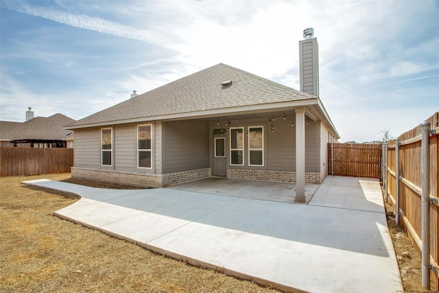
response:
{"label": "grey-brown shingled roof of the main house", "polygon": [[[231,81],[231,84],[224,82]],[[167,119],[169,115],[216,115],[226,108],[318,99],[313,95],[224,65],[209,67],[69,124],[67,128]]]}

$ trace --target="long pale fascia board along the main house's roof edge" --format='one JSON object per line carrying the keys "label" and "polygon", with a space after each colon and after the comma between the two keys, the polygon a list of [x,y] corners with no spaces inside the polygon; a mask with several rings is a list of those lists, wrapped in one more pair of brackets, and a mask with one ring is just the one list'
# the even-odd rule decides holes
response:
{"label": "long pale fascia board along the main house's roof edge", "polygon": [[64,126],[63,129],[74,130],[79,128],[91,128],[91,127],[129,124],[129,123],[138,123],[138,122],[155,121],[155,120],[172,121],[172,120],[202,119],[202,118],[217,117],[224,115],[240,115],[240,114],[252,114],[252,113],[261,113],[261,112],[272,112],[272,110],[286,110],[286,109],[292,109],[302,106],[311,106],[316,104],[318,104],[318,97],[296,99],[294,101],[288,101],[288,102],[277,102],[277,103],[274,102],[274,103],[256,104],[249,106],[201,110],[201,111],[194,111],[187,113],[140,117],[133,119],[117,120],[117,121],[105,121],[95,124],[84,124],[79,126]]}

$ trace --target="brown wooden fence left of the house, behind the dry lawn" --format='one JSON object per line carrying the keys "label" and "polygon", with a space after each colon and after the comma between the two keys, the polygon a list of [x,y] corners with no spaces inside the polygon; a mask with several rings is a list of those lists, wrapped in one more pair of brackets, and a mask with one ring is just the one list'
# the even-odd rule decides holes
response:
{"label": "brown wooden fence left of the house, behind the dry lawn", "polygon": [[70,172],[73,148],[0,147],[0,176],[31,176]]}

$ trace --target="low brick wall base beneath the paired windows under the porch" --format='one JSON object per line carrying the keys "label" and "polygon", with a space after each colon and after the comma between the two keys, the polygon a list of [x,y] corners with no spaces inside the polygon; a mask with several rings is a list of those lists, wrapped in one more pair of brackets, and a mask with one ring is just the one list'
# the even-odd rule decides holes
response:
{"label": "low brick wall base beneath the paired windows under the porch", "polygon": [[[296,172],[292,171],[227,169],[226,173],[229,179],[296,182]],[[305,183],[320,184],[320,172],[305,172]]]}

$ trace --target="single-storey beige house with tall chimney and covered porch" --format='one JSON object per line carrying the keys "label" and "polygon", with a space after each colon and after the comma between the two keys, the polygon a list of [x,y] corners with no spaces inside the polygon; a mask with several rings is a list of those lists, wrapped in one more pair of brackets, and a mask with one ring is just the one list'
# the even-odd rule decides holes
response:
{"label": "single-storey beige house with tall chimney and covered porch", "polygon": [[301,91],[218,64],[69,124],[72,177],[165,187],[222,176],[296,182],[304,194],[339,138],[317,96],[316,38],[305,37]]}

